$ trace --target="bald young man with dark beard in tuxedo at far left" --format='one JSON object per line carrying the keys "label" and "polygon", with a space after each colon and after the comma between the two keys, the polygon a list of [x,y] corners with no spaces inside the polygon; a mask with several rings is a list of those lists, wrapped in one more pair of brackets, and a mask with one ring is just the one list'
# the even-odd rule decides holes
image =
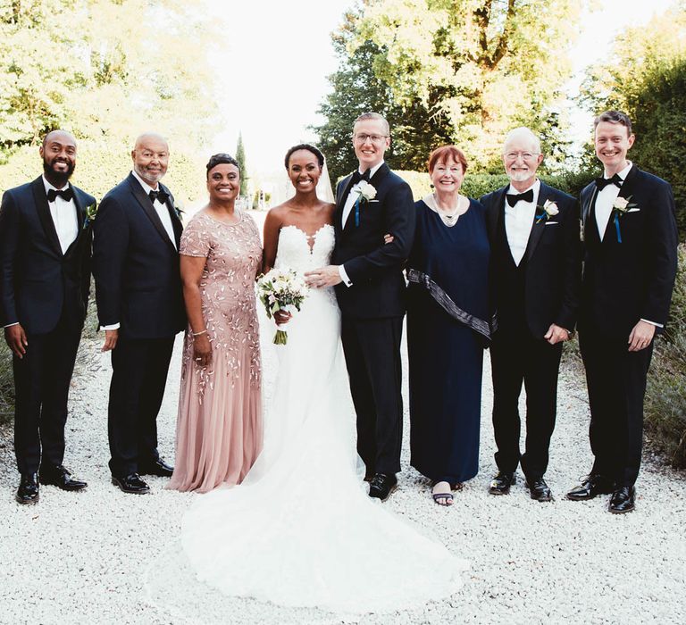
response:
{"label": "bald young man with dark beard in tuxedo at far left", "polygon": [[63,130],[40,146],[43,175],[4,193],[0,208],[0,314],[13,352],[14,452],[20,504],[38,502],[39,483],[82,490],[63,466],[71,374],[90,287],[96,199],[69,182],[76,141]]}

